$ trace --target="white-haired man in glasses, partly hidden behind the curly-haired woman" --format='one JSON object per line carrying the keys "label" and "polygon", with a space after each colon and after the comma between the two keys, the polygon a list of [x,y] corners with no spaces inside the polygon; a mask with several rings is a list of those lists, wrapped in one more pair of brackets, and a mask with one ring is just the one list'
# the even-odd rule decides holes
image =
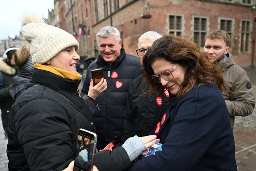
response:
{"label": "white-haired man in glasses, partly hidden behind the curly-haired woman", "polygon": [[[136,52],[140,57],[141,63],[147,50],[160,37],[162,36],[157,32],[149,31],[138,39],[138,49]],[[150,131],[155,129],[155,125],[162,118],[170,103],[167,90],[163,96],[158,94],[148,96],[148,88],[148,84],[143,84],[143,74],[131,83],[124,112],[123,142],[135,135],[148,135]]]}

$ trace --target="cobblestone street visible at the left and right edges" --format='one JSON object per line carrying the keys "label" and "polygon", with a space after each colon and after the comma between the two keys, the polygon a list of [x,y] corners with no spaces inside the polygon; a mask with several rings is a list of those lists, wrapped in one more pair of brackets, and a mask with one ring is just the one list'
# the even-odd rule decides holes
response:
{"label": "cobblestone street visible at the left and right edges", "polygon": [[[256,67],[244,68],[252,85],[253,94],[256,97]],[[81,90],[82,85],[79,86]],[[1,111],[0,111],[1,114]],[[234,138],[236,147],[236,163],[238,171],[256,171],[256,108],[253,114],[247,117],[237,116],[234,124]],[[8,159],[6,154],[7,139],[5,139],[2,119],[0,118],[0,170],[8,171]]]}

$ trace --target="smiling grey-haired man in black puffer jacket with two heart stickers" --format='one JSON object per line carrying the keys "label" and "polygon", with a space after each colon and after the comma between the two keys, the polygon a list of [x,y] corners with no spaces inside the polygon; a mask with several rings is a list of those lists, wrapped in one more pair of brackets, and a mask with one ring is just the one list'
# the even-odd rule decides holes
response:
{"label": "smiling grey-haired man in black puffer jacket with two heart stickers", "polygon": [[115,27],[103,27],[96,34],[99,46],[98,59],[87,70],[82,97],[88,94],[91,70],[102,68],[108,88],[96,99],[98,107],[93,110],[98,134],[97,148],[103,149],[116,136],[116,143],[122,141],[123,112],[131,82],[141,74],[140,60],[125,54],[121,47],[120,32]]}

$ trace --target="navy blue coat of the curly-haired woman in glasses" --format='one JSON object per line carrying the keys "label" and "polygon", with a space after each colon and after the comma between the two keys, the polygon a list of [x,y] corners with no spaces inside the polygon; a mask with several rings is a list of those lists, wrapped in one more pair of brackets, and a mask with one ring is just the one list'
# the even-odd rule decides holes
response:
{"label": "navy blue coat of the curly-haired woman in glasses", "polygon": [[170,99],[166,118],[155,130],[162,151],[135,162],[129,170],[237,170],[234,136],[221,92],[206,85],[179,101],[175,96]]}

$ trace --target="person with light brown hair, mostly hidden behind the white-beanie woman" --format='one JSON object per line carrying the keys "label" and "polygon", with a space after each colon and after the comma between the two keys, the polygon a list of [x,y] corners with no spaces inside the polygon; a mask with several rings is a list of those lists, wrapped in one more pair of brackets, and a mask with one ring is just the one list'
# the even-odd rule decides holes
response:
{"label": "person with light brown hair, mostly hidden behind the white-beanie woman", "polygon": [[19,68],[9,87],[10,95],[14,100],[17,100],[20,94],[25,91],[28,82],[32,79],[34,64],[29,50],[30,45],[24,45],[14,54],[15,64]]}

